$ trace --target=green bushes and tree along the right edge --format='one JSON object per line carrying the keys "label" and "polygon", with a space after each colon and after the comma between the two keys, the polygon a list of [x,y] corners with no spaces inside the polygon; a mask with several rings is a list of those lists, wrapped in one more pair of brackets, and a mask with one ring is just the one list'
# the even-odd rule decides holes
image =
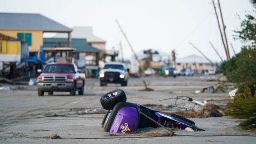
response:
{"label": "green bushes and tree along the right edge", "polygon": [[[255,6],[256,1],[251,1]],[[256,12],[254,11],[254,14]],[[235,39],[244,44],[241,52],[230,61],[221,65],[221,72],[229,82],[238,87],[234,99],[228,102],[227,115],[247,119],[240,123],[243,127],[256,127],[256,19],[253,15],[245,15],[241,29],[235,30]]]}

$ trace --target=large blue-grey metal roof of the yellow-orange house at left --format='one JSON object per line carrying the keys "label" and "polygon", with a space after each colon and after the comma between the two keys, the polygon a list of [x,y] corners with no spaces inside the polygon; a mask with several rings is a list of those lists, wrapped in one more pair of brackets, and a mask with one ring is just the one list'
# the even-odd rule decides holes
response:
{"label": "large blue-grey metal roof of the yellow-orange house at left", "polygon": [[37,13],[0,13],[0,29],[72,31],[61,23]]}

